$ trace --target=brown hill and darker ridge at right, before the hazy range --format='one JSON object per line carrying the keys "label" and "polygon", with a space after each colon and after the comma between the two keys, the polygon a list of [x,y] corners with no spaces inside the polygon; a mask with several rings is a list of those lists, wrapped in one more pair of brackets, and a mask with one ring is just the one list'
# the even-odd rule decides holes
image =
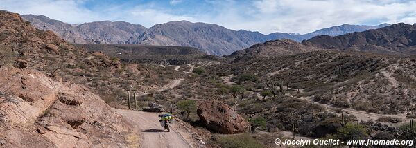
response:
{"label": "brown hill and darker ridge at right, before the hazy range", "polygon": [[228,57],[235,61],[252,58],[296,55],[316,50],[362,51],[388,55],[416,54],[416,24],[393,24],[383,28],[347,33],[331,37],[320,35],[301,43],[290,39],[277,39],[254,44],[238,50]]}

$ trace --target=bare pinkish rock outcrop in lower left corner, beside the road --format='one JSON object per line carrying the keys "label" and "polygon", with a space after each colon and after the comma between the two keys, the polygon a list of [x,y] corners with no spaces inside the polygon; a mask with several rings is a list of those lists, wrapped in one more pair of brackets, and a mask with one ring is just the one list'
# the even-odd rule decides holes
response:
{"label": "bare pinkish rock outcrop in lower left corner, beside the road", "polygon": [[85,87],[31,68],[0,75],[1,147],[127,147],[124,119]]}

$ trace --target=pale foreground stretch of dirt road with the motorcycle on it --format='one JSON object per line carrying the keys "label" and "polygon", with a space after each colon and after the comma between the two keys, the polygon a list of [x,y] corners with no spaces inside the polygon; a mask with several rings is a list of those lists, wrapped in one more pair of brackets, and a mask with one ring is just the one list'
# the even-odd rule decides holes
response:
{"label": "pale foreground stretch of dirt road with the motorcycle on it", "polygon": [[141,135],[140,147],[194,147],[190,133],[180,128],[178,124],[170,124],[171,132],[160,126],[157,113],[114,109],[117,113],[133,124]]}

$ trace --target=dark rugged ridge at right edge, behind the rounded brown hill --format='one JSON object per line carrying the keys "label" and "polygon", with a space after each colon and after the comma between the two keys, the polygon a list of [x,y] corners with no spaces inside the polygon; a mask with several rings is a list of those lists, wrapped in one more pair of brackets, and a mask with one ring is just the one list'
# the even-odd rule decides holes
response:
{"label": "dark rugged ridge at right edge, behind the rounded brown hill", "polygon": [[318,36],[302,42],[324,49],[359,50],[375,53],[416,53],[416,26],[393,24],[384,28],[349,33],[337,37]]}

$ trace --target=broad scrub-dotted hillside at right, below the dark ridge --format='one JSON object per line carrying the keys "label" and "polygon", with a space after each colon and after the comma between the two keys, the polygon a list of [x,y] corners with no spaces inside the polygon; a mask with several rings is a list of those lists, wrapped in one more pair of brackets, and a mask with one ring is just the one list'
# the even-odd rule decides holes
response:
{"label": "broad scrub-dotted hillside at right, below the dark ridge", "polygon": [[415,111],[415,64],[414,57],[320,50],[242,60],[209,71],[255,73],[263,81],[288,83],[334,107],[396,114]]}

